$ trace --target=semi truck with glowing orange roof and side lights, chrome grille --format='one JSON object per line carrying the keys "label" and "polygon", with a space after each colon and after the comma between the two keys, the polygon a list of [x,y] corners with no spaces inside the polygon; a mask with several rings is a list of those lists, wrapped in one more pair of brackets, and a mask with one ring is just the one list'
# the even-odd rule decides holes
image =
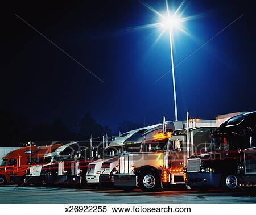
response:
{"label": "semi truck with glowing orange roof and side lights, chrome grille", "polygon": [[[188,129],[193,147],[197,150],[210,142],[214,127]],[[197,146],[201,147],[197,147]],[[128,145],[127,145],[128,146]],[[151,141],[132,144],[129,153],[121,153],[118,158],[118,172],[114,185],[123,189],[141,188],[155,191],[165,184],[184,184],[183,167],[191,145],[187,141],[187,129],[155,133]]]}

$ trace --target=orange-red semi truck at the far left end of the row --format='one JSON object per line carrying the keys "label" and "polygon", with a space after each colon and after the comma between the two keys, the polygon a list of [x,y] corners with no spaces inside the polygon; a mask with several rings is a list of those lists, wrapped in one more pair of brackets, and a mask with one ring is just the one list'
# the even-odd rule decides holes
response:
{"label": "orange-red semi truck at the far left end of the row", "polygon": [[27,168],[43,163],[44,154],[61,145],[27,146],[6,154],[0,166],[0,184],[23,183]]}

